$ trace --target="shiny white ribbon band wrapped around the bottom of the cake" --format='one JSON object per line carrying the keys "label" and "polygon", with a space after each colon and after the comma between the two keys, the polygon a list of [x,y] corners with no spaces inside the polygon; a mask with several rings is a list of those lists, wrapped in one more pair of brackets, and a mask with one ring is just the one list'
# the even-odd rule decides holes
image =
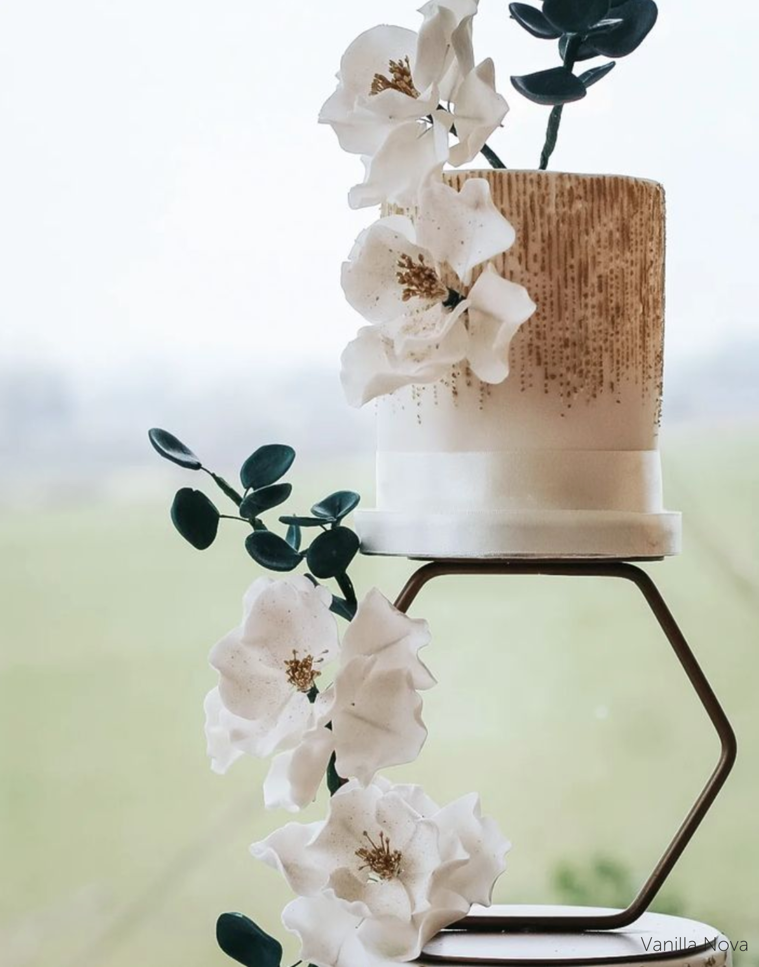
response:
{"label": "shiny white ribbon band wrapped around the bottom of the cake", "polygon": [[657,450],[377,454],[377,509],[662,510]]}

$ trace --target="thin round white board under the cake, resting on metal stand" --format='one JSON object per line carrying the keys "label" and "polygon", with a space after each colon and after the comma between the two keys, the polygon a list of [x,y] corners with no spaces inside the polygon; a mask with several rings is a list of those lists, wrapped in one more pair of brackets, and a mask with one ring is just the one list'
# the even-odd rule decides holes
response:
{"label": "thin round white board under the cake, resting on metal stand", "polygon": [[359,511],[365,554],[433,560],[605,558],[645,560],[679,554],[680,513],[620,511]]}

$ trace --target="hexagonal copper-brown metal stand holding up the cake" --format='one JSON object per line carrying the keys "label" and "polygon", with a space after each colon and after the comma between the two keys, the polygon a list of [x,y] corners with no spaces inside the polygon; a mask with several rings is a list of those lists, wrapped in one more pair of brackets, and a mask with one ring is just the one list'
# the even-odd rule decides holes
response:
{"label": "hexagonal copper-brown metal stand holding up the cake", "polygon": [[395,606],[406,611],[424,585],[434,577],[448,574],[556,574],[569,577],[621,577],[631,581],[646,599],[657,619],[660,629],[672,646],[687,679],[698,695],[707,715],[715,726],[721,743],[719,761],[701,794],[690,807],[680,829],[674,835],[663,856],[654,867],[640,892],[626,910],[613,914],[582,916],[529,916],[529,917],[466,917],[456,923],[454,929],[482,931],[533,930],[580,931],[612,930],[628,926],[641,917],[661,889],[664,881],[680,859],[691,837],[715,801],[725,779],[735,762],[737,743],[735,734],[716,698],[715,692],[691,652],[683,632],[658,593],[657,586],[645,571],[622,561],[602,560],[462,560],[433,561],[416,571],[395,601]]}

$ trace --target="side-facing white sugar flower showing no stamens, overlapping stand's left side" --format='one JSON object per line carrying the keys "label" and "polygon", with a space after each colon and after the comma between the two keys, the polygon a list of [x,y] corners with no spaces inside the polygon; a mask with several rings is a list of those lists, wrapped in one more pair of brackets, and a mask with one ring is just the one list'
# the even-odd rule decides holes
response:
{"label": "side-facing white sugar flower showing no stamens, overlapping stand's left side", "polygon": [[333,752],[337,773],[363,783],[417,758],[427,734],[418,692],[435,684],[418,655],[428,642],[426,622],[407,617],[377,590],[366,595],[343,637],[335,683],[319,696],[318,720],[272,763],[267,806],[307,806]]}

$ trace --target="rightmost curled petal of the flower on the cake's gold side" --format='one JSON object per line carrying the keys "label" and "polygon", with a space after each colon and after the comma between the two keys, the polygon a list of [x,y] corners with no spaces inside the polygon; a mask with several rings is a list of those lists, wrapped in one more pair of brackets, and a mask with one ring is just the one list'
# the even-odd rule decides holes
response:
{"label": "rightmost curled petal of the flower on the cake's gold side", "polygon": [[537,308],[523,285],[488,266],[469,293],[469,348],[472,371],[483,383],[509,375],[509,347],[519,327]]}

